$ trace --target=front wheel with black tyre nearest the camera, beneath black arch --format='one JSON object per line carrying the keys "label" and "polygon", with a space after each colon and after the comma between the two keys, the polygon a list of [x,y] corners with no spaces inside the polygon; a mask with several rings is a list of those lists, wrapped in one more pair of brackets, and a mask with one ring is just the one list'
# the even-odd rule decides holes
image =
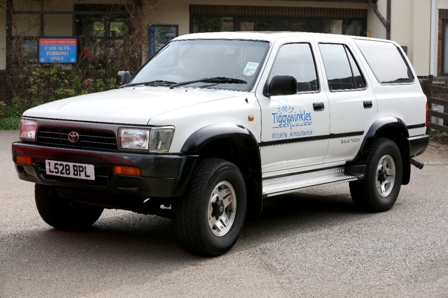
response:
{"label": "front wheel with black tyre nearest the camera, beneath black arch", "polygon": [[[219,209],[218,197],[214,201],[215,197],[212,196],[218,185],[221,186],[221,191],[224,189],[235,196],[233,203],[222,200],[225,201],[223,204],[229,204],[227,208],[221,204],[223,208]],[[210,207],[214,204],[212,202],[215,202],[216,210]],[[231,208],[234,208],[234,213],[230,211]],[[182,248],[191,253],[203,256],[221,255],[229,251],[238,239],[246,219],[246,209],[246,186],[238,167],[223,159],[207,158],[195,166],[184,195],[173,204],[174,233]],[[213,212],[211,217],[210,212]],[[217,216],[214,212],[221,212],[222,215]],[[221,217],[227,213],[230,215],[225,217],[233,218],[232,223],[227,224],[222,231],[225,232],[223,235],[217,235],[221,232],[211,224],[221,221]]]}

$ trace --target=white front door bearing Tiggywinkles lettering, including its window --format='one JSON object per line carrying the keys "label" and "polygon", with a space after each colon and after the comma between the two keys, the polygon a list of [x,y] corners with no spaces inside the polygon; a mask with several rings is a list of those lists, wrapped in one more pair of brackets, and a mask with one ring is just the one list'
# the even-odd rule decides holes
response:
{"label": "white front door bearing Tiggywinkles lettering, including its window", "polygon": [[270,97],[257,94],[262,110],[264,177],[322,164],[328,146],[330,111],[317,75],[315,50],[309,42],[278,43],[273,48],[272,68],[266,69],[268,77],[263,82],[269,83],[276,75],[291,75],[297,80],[297,93]]}

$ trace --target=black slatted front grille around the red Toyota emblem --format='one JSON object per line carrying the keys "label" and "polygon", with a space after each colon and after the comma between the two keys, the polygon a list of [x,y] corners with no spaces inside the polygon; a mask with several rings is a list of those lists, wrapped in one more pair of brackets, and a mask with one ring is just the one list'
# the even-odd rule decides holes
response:
{"label": "black slatted front grille around the red Toyota emblem", "polygon": [[[77,142],[69,140],[68,134],[71,132],[79,135]],[[114,133],[76,128],[39,127],[37,143],[82,149],[117,150],[117,139]]]}

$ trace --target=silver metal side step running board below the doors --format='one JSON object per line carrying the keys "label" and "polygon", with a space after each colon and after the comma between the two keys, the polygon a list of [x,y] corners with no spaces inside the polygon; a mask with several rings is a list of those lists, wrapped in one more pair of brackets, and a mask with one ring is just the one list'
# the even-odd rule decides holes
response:
{"label": "silver metal side step running board below the doors", "polygon": [[263,180],[263,196],[288,194],[298,190],[362,179],[361,174],[344,174],[344,167]]}

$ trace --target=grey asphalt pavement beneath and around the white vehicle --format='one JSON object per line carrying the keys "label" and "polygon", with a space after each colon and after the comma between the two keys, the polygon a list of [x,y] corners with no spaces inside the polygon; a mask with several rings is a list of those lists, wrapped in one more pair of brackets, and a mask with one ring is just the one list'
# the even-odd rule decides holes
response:
{"label": "grey asphalt pavement beneath and around the white vehicle", "polygon": [[443,160],[413,167],[382,213],[355,209],[348,184],[265,200],[229,253],[203,258],[156,216],[105,210],[89,231],[48,226],[15,173],[16,139],[0,131],[0,298],[448,296]]}

